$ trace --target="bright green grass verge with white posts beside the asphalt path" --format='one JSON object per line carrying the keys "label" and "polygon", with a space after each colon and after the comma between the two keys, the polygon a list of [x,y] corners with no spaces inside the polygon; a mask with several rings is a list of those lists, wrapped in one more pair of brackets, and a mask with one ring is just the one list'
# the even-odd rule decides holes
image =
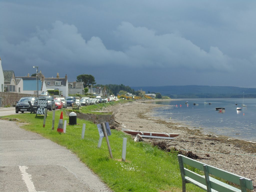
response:
{"label": "bright green grass verge with white posts beside the asphalt path", "polygon": [[[63,110],[64,111],[64,110]],[[52,112],[48,111],[45,128],[44,116],[19,114],[6,117],[26,122],[22,128],[39,133],[75,153],[81,161],[93,170],[115,192],[136,191],[178,191],[181,192],[181,176],[176,154],[166,153],[149,143],[134,142],[129,135],[111,130],[109,136],[113,159],[110,158],[106,140],[97,148],[99,133],[97,125],[77,119],[77,125],[67,125],[66,133],[57,133],[61,111],[55,114],[55,129],[52,130]],[[69,117],[63,114],[63,121]],[[84,139],[81,139],[82,125],[86,124]],[[122,162],[122,142],[127,138],[126,162]],[[204,191],[187,184],[187,191]]]}

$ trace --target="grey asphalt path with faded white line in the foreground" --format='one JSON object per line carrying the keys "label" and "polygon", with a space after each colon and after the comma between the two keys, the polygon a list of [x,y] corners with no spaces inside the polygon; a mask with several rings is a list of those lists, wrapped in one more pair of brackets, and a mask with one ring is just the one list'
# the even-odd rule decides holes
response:
{"label": "grey asphalt path with faded white line in the foreground", "polygon": [[16,122],[0,120],[0,191],[111,190],[66,148],[19,128]]}

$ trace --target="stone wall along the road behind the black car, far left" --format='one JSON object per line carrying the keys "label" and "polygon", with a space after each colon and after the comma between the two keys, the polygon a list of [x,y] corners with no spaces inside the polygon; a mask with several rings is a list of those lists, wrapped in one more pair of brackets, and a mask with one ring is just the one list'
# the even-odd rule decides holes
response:
{"label": "stone wall along the road behind the black car, far left", "polygon": [[0,92],[0,107],[14,106],[16,101],[22,97],[37,97],[37,95],[15,93],[15,92]]}

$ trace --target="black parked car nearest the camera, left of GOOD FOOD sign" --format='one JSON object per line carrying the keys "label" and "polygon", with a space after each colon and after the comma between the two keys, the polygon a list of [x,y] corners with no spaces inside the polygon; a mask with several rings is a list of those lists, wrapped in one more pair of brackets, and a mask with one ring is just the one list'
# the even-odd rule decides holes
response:
{"label": "black parked car nearest the camera, left of GOOD FOOD sign", "polygon": [[36,97],[22,97],[20,98],[19,101],[17,101],[17,104],[15,106],[15,113],[19,113],[19,111],[22,113],[24,113],[24,111],[31,111],[30,106],[28,104],[29,101],[31,102],[33,109],[36,110],[37,108]]}

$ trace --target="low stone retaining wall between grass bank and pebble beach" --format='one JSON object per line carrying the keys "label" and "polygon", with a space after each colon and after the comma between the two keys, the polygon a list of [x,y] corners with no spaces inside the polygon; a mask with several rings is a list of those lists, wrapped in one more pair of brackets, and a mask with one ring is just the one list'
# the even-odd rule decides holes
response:
{"label": "low stone retaining wall between grass bank and pebble beach", "polygon": [[[67,112],[69,116],[70,112]],[[89,114],[89,113],[76,113],[77,118],[84,119],[86,121],[92,121],[95,124],[109,122],[109,125],[113,125],[115,122],[115,116],[112,115],[96,115],[96,114]]]}

